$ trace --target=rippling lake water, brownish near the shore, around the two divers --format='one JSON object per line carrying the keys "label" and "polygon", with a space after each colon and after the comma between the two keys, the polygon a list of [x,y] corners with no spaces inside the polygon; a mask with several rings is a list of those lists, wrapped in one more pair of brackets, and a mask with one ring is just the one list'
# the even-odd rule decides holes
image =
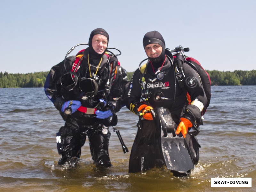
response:
{"label": "rippling lake water, brownish near the shore, around the two divers", "polygon": [[[109,154],[113,166],[97,168],[88,140],[78,166],[58,166],[56,132],[64,124],[43,88],[0,89],[0,191],[256,191],[256,86],[212,86],[212,100],[197,136],[200,160],[186,178],[165,166],[128,174],[113,129]],[[117,128],[131,151],[138,117],[118,112]],[[212,188],[212,177],[251,177],[252,188]]]}

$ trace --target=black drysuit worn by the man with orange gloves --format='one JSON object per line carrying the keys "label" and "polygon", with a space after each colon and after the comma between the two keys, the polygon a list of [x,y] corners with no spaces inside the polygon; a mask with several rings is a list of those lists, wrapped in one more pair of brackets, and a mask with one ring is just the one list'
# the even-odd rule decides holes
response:
{"label": "black drysuit worn by the man with orange gloves", "polygon": [[[190,95],[191,101],[198,99],[204,106],[206,106],[207,98],[200,77],[187,63],[183,63],[185,73],[184,89],[180,87],[176,79],[174,67],[170,60],[166,59],[163,66],[159,66],[158,68],[153,68],[153,66],[154,65],[149,61],[147,65],[145,64],[141,67],[141,70],[137,69],[132,76],[129,88],[126,92],[125,104],[133,113],[138,113],[138,108],[141,104],[147,104],[153,108],[167,108],[172,115],[173,121],[179,125],[180,117],[184,114],[184,108],[188,105],[187,93]],[[155,72],[158,70],[164,74],[162,80],[156,79]],[[145,78],[145,90],[148,92],[145,92],[145,90],[142,91],[141,89],[142,77]],[[148,100],[142,101],[141,95],[146,94],[149,95]],[[142,120],[142,124],[143,121],[148,122],[148,120]],[[154,122],[152,121],[152,123]],[[140,128],[138,128],[137,135],[141,135]],[[140,138],[136,136],[134,143],[138,143],[141,139],[146,139],[151,135],[152,133],[148,133],[148,135],[142,135]],[[156,140],[157,139],[159,140],[159,138],[156,138]],[[199,144],[197,143],[197,139],[194,136],[190,137],[190,135],[187,134],[186,141],[190,147],[194,164],[197,164],[199,160]],[[158,141],[153,142],[158,143]],[[156,151],[158,154],[157,158],[162,159],[160,155],[161,152],[159,152],[161,151],[161,147],[156,146]],[[130,163],[132,164],[132,162]]]}

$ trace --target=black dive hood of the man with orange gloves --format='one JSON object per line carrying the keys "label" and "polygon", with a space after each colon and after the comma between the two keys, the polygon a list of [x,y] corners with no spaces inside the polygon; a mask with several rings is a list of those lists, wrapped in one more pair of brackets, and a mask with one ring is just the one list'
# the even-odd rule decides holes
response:
{"label": "black dive hood of the man with orange gloves", "polygon": [[153,63],[163,64],[165,59],[165,42],[164,42],[163,36],[158,31],[149,31],[148,33],[145,34],[143,38],[144,49],[148,44],[153,44],[153,43],[161,45],[163,51],[159,57],[157,58],[148,57],[148,59],[151,60]]}

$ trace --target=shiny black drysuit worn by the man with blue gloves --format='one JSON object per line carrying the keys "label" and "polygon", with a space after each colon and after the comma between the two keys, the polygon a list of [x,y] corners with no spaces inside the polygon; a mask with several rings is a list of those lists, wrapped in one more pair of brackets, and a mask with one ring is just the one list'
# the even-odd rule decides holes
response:
{"label": "shiny black drysuit worn by the man with blue gloves", "polygon": [[[127,80],[126,71],[119,65],[116,67],[116,75],[113,81],[113,86],[109,94],[106,94],[105,86],[108,81],[110,68],[108,62],[108,54],[104,54],[101,58],[95,58],[90,56],[89,48],[82,50],[77,55],[83,54],[81,63],[78,69],[72,76],[77,77],[76,86],[71,87],[61,85],[61,76],[71,71],[71,68],[75,68],[74,61],[76,56],[71,56],[58,65],[52,67],[47,76],[44,90],[47,97],[54,103],[54,106],[60,111],[61,116],[65,120],[65,125],[62,126],[57,133],[57,148],[62,158],[59,160],[59,164],[64,164],[68,161],[75,161],[81,155],[81,147],[85,143],[86,135],[89,138],[89,144],[91,149],[91,155],[94,162],[101,166],[111,166],[108,155],[108,142],[110,133],[102,132],[103,121],[96,118],[94,112],[100,107],[100,99],[108,100],[114,106],[115,112],[118,112],[123,106],[123,93],[128,87],[129,81]],[[87,56],[89,54],[89,62]],[[93,78],[96,76],[95,82],[98,85],[98,93],[93,97],[83,97],[83,92],[79,88],[81,78]],[[65,81],[62,79],[61,81]],[[71,82],[70,84],[72,84]],[[87,86],[86,86],[87,87]],[[72,88],[72,90],[70,90]],[[68,100],[81,101],[82,107],[87,111],[77,110],[71,115],[65,115],[61,112],[62,105]],[[100,110],[100,109],[99,109]]]}

